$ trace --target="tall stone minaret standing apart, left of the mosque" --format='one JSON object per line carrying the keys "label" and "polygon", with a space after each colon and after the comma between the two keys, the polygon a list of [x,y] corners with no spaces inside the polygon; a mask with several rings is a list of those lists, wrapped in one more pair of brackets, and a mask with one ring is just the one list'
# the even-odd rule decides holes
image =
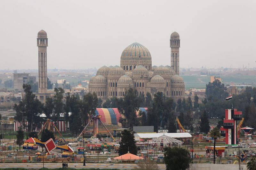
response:
{"label": "tall stone minaret standing apart, left of the mosque", "polygon": [[47,93],[47,46],[48,38],[44,30],[37,34],[38,47],[38,93]]}

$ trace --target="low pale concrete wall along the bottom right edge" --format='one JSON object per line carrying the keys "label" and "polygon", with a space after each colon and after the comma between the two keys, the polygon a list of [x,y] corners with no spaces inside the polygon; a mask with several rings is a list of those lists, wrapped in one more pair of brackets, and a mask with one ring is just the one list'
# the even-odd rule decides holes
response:
{"label": "low pale concrete wall along the bottom right edge", "polygon": [[[191,170],[231,170],[239,169],[238,164],[190,164],[192,165]],[[247,170],[246,165],[241,165],[241,170]]]}

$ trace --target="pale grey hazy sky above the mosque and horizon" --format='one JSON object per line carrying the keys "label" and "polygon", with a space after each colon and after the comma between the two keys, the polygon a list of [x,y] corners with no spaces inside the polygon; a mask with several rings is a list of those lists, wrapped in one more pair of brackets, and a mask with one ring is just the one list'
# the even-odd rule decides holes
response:
{"label": "pale grey hazy sky above the mosque and horizon", "polygon": [[0,70],[36,69],[37,32],[48,35],[48,68],[120,66],[137,41],[152,66],[170,65],[180,34],[180,67],[255,66],[255,0],[0,1]]}

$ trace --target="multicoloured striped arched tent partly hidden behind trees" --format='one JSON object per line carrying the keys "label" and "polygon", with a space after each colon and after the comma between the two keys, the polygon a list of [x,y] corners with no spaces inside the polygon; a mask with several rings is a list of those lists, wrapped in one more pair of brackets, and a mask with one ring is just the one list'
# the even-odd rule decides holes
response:
{"label": "multicoloured striped arched tent partly hidden behind trees", "polygon": [[[140,107],[139,111],[145,112],[147,115],[147,109],[148,108]],[[137,117],[139,116],[139,111],[136,112]],[[117,108],[97,108],[95,114],[101,115],[100,120],[103,123],[107,123],[109,125],[117,125],[117,123],[119,123],[120,118],[124,117],[123,115],[121,115],[121,113],[119,113]]]}

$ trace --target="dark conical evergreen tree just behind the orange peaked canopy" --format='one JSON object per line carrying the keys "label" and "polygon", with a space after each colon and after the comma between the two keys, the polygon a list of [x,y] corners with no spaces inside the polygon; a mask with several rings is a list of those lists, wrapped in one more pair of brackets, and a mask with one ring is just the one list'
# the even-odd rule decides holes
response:
{"label": "dark conical evergreen tree just behind the orange peaked canopy", "polygon": [[129,151],[131,154],[137,155],[138,149],[135,145],[136,142],[134,139],[134,135],[128,130],[124,129],[124,131],[121,133],[121,138],[122,139],[119,143],[120,147],[118,150],[118,154],[124,155]]}

